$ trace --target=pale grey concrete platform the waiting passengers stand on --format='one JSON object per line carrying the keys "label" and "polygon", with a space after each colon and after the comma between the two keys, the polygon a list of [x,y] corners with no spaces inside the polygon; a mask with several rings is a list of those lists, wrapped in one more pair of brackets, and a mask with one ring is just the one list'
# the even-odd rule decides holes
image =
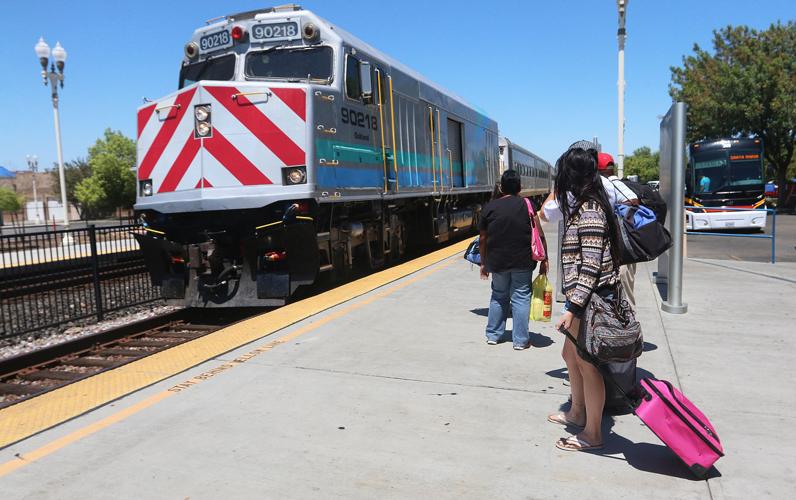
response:
{"label": "pale grey concrete platform the waiting passengers stand on", "polygon": [[[461,246],[461,245],[460,245]],[[790,267],[788,267],[790,266]],[[727,456],[695,480],[633,415],[601,454],[554,447],[563,338],[484,342],[458,252],[0,450],[3,498],[792,498],[796,265],[689,260],[689,312],[636,295],[647,351]],[[0,412],[0,426],[4,425]],[[6,421],[7,423],[7,421]]]}

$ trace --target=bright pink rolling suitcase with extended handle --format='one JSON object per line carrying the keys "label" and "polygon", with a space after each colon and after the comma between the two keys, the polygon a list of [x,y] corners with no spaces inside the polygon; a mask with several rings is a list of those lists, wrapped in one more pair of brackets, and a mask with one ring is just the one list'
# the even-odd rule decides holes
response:
{"label": "bright pink rolling suitcase with extended handle", "polygon": [[[575,342],[572,335],[561,332]],[[582,352],[582,351],[581,351]],[[630,394],[625,393],[608,370],[602,369],[588,353],[585,357],[607,380],[624,394],[633,413],[669,447],[697,477],[705,478],[710,468],[724,456],[716,430],[694,403],[666,380],[642,378]]]}

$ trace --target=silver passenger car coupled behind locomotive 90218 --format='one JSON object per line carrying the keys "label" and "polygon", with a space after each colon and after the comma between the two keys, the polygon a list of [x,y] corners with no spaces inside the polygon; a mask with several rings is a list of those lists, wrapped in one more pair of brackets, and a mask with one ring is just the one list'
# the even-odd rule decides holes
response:
{"label": "silver passenger car coupled behind locomotive 90218", "polygon": [[[555,168],[527,149],[500,137],[500,173],[513,169],[520,173],[521,196],[541,203],[553,190]],[[538,205],[537,205],[538,206]]]}

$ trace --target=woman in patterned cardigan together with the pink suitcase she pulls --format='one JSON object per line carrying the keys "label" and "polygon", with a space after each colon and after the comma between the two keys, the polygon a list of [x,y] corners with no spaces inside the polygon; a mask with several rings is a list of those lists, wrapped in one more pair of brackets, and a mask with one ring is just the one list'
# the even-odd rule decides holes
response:
{"label": "woman in patterned cardigan together with the pink suitcase she pulls", "polygon": [[573,144],[556,165],[556,196],[566,227],[561,258],[567,296],[567,310],[557,328],[571,340],[564,343],[563,356],[572,406],[565,413],[550,415],[548,421],[583,427],[580,433],[561,438],[556,447],[566,451],[603,447],[604,376],[623,394],[633,413],[696,476],[704,478],[724,455],[707,417],[670,382],[646,377],[628,394],[605,369],[608,362],[638,357],[643,340],[618,283],[621,241],[607,197],[601,186],[597,189],[597,151],[589,145],[585,141]]}

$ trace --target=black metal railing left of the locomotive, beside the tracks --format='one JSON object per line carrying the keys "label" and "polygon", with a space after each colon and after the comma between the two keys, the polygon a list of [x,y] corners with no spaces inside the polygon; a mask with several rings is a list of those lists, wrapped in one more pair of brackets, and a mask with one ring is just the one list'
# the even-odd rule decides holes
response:
{"label": "black metal railing left of the locomotive, beside the tracks", "polygon": [[136,224],[0,236],[0,338],[157,300]]}

